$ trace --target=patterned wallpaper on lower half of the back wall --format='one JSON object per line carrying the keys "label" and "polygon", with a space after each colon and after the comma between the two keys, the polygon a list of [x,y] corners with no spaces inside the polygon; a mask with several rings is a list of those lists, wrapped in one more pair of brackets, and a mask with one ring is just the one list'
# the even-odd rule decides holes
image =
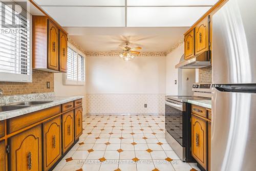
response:
{"label": "patterned wallpaper on lower half of the back wall", "polygon": [[164,98],[165,94],[87,94],[86,113],[164,114]]}

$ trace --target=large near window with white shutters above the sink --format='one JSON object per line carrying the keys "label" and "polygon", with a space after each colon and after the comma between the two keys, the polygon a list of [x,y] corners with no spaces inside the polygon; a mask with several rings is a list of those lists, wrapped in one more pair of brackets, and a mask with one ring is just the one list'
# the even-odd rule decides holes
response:
{"label": "large near window with white shutters above the sink", "polygon": [[31,16],[17,7],[0,2],[0,81],[31,82]]}

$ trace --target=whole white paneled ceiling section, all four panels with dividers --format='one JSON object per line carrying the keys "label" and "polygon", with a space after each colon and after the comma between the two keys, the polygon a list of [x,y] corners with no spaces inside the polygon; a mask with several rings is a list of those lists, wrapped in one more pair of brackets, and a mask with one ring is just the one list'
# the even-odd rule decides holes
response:
{"label": "whole white paneled ceiling section, all four panels with dividers", "polygon": [[218,0],[34,1],[63,27],[189,27],[218,2]]}

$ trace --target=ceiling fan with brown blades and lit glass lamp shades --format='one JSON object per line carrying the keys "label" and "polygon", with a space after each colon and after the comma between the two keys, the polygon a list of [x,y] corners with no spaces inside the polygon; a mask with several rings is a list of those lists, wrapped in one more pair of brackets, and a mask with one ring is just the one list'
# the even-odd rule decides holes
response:
{"label": "ceiling fan with brown blades and lit glass lamp shades", "polygon": [[135,58],[134,54],[140,54],[140,52],[136,51],[136,50],[140,50],[142,49],[141,47],[136,47],[136,48],[130,48],[128,47],[130,44],[129,41],[125,41],[125,45],[126,46],[119,46],[119,48],[122,49],[122,51],[111,51],[111,52],[121,52],[121,54],[119,55],[120,58],[123,58],[123,60],[131,60],[133,58]]}

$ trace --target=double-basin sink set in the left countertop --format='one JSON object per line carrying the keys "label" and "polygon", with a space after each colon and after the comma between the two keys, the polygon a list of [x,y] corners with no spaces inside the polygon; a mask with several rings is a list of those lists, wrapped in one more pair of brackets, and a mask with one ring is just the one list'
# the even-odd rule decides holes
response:
{"label": "double-basin sink set in the left countertop", "polygon": [[0,112],[6,112],[6,111],[13,111],[17,109],[27,108],[29,106],[39,105],[39,104],[45,104],[50,103],[52,101],[50,100],[40,100],[40,101],[23,101],[23,102],[15,102],[15,103],[8,103],[4,105],[0,105]]}

